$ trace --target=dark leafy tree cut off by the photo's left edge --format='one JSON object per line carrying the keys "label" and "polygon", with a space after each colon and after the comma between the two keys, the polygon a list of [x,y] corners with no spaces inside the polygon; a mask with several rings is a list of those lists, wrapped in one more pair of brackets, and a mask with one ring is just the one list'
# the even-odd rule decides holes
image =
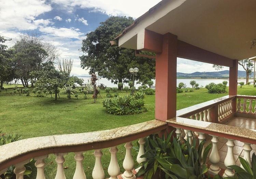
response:
{"label": "dark leafy tree cut off by the photo's left edge", "polygon": [[4,44],[6,41],[11,39],[6,39],[0,36],[0,89],[3,88],[3,82],[9,82],[14,79],[14,63],[12,61],[13,50],[8,49]]}

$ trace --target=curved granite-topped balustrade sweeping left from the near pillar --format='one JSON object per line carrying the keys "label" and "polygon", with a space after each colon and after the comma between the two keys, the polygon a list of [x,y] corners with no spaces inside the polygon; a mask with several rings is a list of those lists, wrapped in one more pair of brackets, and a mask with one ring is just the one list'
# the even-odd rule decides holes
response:
{"label": "curved granite-topped balustrade sweeping left from the near pillar", "polygon": [[[46,137],[37,137],[24,139],[0,146],[0,175],[4,173],[11,165],[15,165],[14,173],[17,179],[23,179],[25,172],[24,165],[31,158],[34,158],[35,166],[37,167],[37,179],[45,179],[44,176],[44,159],[48,154],[56,155],[57,173],[55,179],[66,179],[63,171],[63,163],[65,155],[70,152],[75,154],[74,161],[76,162],[75,173],[73,179],[86,179],[86,175],[92,175],[94,179],[104,179],[104,171],[101,164],[102,148],[110,147],[111,160],[108,167],[108,173],[111,179],[117,179],[120,173],[120,168],[117,163],[117,145],[125,143],[126,155],[123,162],[125,169],[122,175],[123,179],[136,178],[132,173],[134,161],[131,155],[132,141],[139,139],[139,153],[137,162],[145,161],[145,158],[140,158],[145,153],[144,143],[145,137],[165,130],[166,122],[153,120],[140,124],[134,124],[116,129],[55,135]],[[83,169],[83,152],[94,149],[95,166],[92,174],[85,174]],[[12,151],[12,152],[10,152]]]}

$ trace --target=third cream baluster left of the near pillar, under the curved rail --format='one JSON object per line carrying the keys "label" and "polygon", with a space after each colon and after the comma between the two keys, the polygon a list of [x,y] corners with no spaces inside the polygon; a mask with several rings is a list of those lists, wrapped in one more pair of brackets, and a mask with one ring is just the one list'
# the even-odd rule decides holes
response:
{"label": "third cream baluster left of the near pillar, under the curved rail", "polygon": [[108,168],[108,173],[110,175],[109,179],[117,179],[117,175],[120,172],[120,168],[119,168],[117,157],[116,157],[116,153],[118,149],[116,148],[116,146],[114,146],[114,147],[111,147],[109,151],[111,153],[111,159],[110,159],[109,168]]}

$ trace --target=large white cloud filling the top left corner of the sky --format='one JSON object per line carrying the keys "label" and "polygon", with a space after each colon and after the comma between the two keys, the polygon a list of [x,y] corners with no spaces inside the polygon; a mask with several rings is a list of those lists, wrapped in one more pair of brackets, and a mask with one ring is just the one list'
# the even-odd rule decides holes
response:
{"label": "large white cloud filling the top left corner of the sky", "polygon": [[52,10],[51,5],[44,0],[1,0],[0,2],[1,30],[18,29],[33,30],[35,17]]}

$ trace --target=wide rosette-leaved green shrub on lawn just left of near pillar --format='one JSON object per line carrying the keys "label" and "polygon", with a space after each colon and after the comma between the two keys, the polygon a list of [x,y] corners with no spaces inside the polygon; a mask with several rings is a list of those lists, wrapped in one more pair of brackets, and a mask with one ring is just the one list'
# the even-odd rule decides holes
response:
{"label": "wide rosette-leaved green shrub on lawn just left of near pillar", "polygon": [[102,102],[103,107],[105,107],[110,114],[138,114],[147,111],[143,99],[136,99],[131,95],[117,96],[113,98],[106,97]]}

